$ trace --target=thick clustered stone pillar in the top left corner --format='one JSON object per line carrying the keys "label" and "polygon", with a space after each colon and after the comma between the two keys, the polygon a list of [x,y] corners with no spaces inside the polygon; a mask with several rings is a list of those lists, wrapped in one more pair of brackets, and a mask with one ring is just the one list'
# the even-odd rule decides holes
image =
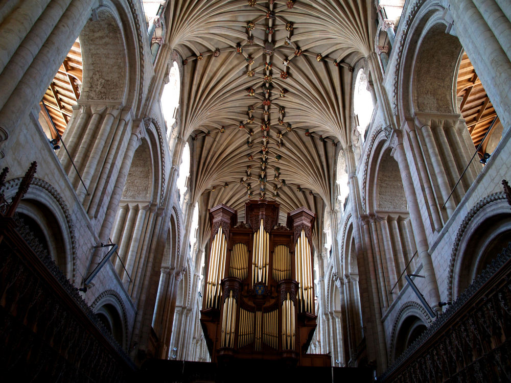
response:
{"label": "thick clustered stone pillar in the top left corner", "polygon": [[[7,134],[18,128],[34,100],[42,98],[69,48],[90,16],[90,0],[23,2],[0,11],[0,126]],[[12,17],[12,19],[11,19]],[[71,27],[72,26],[72,27]],[[11,142],[6,142],[5,152]]]}

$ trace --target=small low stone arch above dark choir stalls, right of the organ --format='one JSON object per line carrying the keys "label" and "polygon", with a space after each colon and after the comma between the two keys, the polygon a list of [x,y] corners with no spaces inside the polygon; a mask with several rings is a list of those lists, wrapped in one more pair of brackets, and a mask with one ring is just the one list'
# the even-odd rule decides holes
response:
{"label": "small low stone arch above dark choir stalls, right of the organ", "polygon": [[390,333],[389,364],[395,361],[431,323],[431,318],[421,304],[414,301],[403,303]]}

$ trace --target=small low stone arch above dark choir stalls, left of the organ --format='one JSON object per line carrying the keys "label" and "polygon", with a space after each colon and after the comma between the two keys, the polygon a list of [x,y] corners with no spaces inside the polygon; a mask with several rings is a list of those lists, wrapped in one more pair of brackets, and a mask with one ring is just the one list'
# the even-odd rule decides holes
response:
{"label": "small low stone arch above dark choir stalls, left of the organ", "polygon": [[128,317],[126,306],[114,290],[107,290],[98,295],[90,305],[101,323],[112,334],[113,339],[126,350],[128,338]]}

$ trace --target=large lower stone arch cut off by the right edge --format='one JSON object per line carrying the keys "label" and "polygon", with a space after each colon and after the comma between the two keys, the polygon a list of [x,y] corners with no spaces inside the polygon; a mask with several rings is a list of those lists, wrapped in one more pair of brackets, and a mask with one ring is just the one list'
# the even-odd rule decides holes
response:
{"label": "large lower stone arch cut off by the right edge", "polygon": [[511,211],[503,192],[481,199],[465,216],[449,265],[449,300],[456,299],[511,241]]}

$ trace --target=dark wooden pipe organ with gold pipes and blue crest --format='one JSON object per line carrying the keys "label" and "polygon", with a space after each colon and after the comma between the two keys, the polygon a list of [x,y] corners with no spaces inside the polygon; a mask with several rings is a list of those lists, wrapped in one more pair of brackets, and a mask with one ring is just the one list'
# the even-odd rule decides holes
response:
{"label": "dark wooden pipe organ with gold pipes and blue crest", "polygon": [[225,205],[210,209],[211,250],[201,325],[212,362],[262,359],[331,366],[306,354],[316,329],[311,231],[305,207],[278,225],[279,204],[249,201],[247,224]]}

